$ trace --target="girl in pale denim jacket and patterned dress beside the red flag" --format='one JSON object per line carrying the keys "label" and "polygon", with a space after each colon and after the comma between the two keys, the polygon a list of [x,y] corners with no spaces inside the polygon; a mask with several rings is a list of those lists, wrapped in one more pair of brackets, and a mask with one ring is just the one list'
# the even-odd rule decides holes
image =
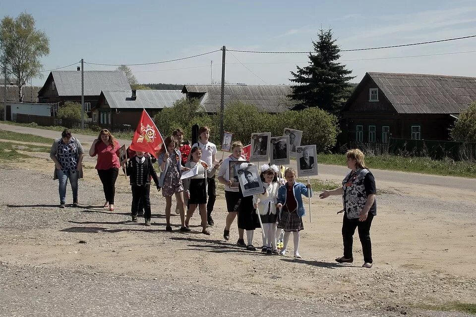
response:
{"label": "girl in pale denim jacket and patterned dress beside the red flag", "polygon": [[163,170],[160,175],[159,185],[162,187],[162,196],[165,197],[165,218],[167,221],[166,231],[171,232],[170,210],[172,208],[172,196],[177,199],[177,206],[180,212],[180,232],[190,231],[185,226],[185,206],[183,203],[183,184],[180,180],[182,170],[190,168],[181,165],[181,155],[178,150],[178,143],[172,137],[167,137],[162,144],[162,153],[157,158],[160,168]]}

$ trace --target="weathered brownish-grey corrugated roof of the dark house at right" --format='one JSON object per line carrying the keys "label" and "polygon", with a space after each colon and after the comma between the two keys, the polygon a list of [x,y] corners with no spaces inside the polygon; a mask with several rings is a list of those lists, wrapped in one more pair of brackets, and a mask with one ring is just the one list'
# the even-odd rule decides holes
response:
{"label": "weathered brownish-grey corrugated roof of the dark house at right", "polygon": [[476,78],[368,72],[398,113],[461,113],[476,101]]}

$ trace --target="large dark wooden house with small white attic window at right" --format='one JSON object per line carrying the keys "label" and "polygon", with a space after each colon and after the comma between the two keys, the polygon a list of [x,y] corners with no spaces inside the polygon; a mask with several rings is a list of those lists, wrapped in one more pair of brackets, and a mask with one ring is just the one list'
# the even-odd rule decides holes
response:
{"label": "large dark wooden house with small white attic window at right", "polygon": [[343,108],[341,128],[346,142],[449,140],[474,101],[473,77],[367,72]]}

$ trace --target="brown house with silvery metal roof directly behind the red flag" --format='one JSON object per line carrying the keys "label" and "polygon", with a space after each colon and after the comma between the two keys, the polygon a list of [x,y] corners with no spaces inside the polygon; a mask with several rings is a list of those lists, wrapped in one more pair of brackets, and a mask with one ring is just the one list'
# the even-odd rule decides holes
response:
{"label": "brown house with silvery metal roof directly behind the red flag", "polygon": [[142,109],[153,118],[183,97],[179,90],[105,90],[91,110],[92,122],[103,127],[130,126],[135,129]]}

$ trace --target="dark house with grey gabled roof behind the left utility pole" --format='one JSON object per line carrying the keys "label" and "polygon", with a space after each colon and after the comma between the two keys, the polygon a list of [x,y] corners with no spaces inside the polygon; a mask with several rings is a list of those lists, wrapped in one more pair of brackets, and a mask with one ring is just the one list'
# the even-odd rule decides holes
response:
{"label": "dark house with grey gabled roof behind the left utility pole", "polygon": [[[84,108],[89,117],[91,108],[96,106],[103,90],[130,90],[123,71],[84,71]],[[81,104],[81,71],[54,70],[38,92],[41,104],[58,104],[71,101]]]}

